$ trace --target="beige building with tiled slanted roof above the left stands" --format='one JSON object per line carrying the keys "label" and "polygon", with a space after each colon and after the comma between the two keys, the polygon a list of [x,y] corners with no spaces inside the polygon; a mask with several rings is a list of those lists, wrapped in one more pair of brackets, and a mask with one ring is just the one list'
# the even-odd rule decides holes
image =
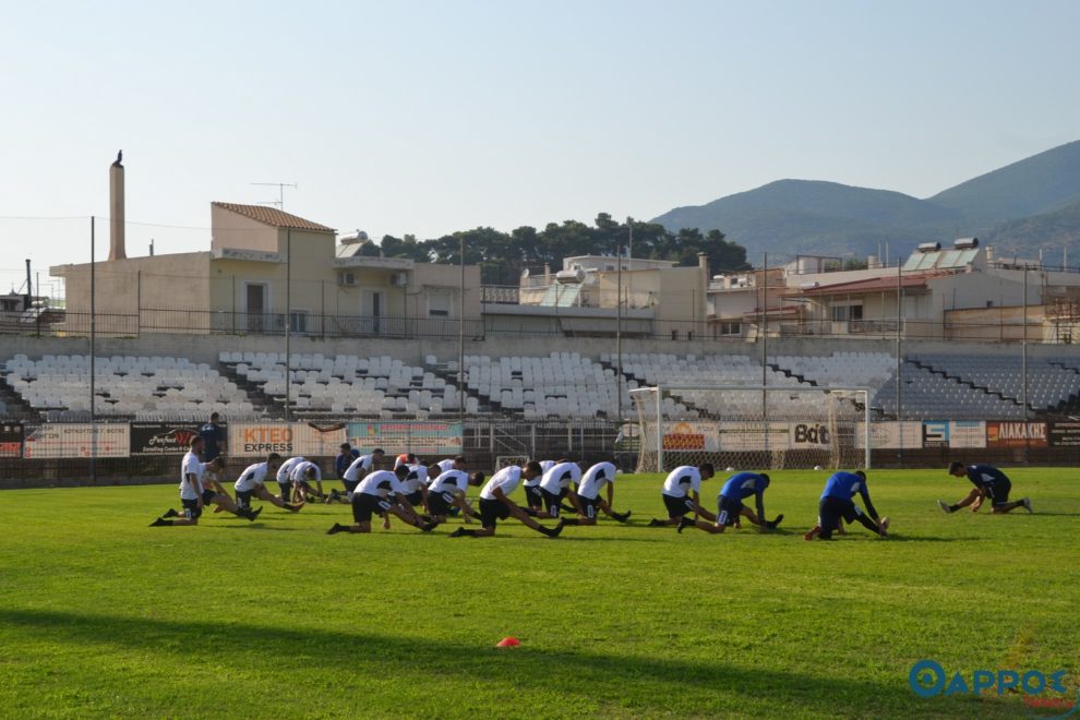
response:
{"label": "beige building with tiled slanted roof above the left stands", "polygon": [[[204,252],[97,263],[97,329],[304,335],[452,335],[479,325],[480,271],[380,257],[365,238],[262,205],[213,203]],[[369,252],[365,252],[369,251]],[[67,288],[65,329],[89,327],[91,266],[50,268]]]}

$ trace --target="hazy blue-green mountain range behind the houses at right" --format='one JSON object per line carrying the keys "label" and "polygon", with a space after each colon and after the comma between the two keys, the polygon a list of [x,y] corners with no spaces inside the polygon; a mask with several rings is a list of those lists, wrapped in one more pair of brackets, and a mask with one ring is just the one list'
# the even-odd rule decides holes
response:
{"label": "hazy blue-green mountain range behind the houses at right", "polygon": [[[705,205],[676,207],[653,223],[720,230],[747,250],[842,256],[909,254],[922,242],[977,237],[999,255],[1060,264],[1080,239],[1080,141],[972,178],[932,197],[821,180],[778,180]],[[1080,260],[1080,247],[1073,261]],[[1070,264],[1076,264],[1070,262]]]}

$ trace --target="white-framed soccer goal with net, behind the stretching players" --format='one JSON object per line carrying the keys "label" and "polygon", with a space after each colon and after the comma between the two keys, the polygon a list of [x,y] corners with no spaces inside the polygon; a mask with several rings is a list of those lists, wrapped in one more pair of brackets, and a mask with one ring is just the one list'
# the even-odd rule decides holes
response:
{"label": "white-framed soccer goal with net, behind the stretching players", "polygon": [[718,471],[871,466],[865,387],[658,385],[631,396],[638,472],[701,463]]}

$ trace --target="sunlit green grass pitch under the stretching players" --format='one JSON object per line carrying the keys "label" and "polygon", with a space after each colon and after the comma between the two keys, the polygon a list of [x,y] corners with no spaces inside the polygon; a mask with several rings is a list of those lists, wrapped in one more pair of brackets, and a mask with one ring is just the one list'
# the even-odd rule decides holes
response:
{"label": "sunlit green grass pitch under the stretching players", "polygon": [[1080,470],[1009,472],[1035,515],[946,516],[935,499],[965,480],[872,472],[895,537],[831,543],[802,540],[812,471],[772,473],[776,533],[645,527],[663,507],[637,476],[616,491],[627,526],[555,540],[513,520],[324,535],[344,505],[151,529],[172,485],[5,491],[0,713],[1022,717],[1019,695],[908,685],[922,658],[1077,684]]}

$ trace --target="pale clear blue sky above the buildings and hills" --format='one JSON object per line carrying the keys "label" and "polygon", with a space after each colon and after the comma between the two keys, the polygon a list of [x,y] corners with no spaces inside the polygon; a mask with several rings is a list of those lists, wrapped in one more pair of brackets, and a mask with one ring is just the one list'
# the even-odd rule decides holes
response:
{"label": "pale clear blue sky above the buildings and hills", "polygon": [[[206,249],[211,201],[276,197],[252,182],[427,238],[780,178],[926,196],[1080,137],[1075,1],[0,8],[0,216],[106,216],[122,147],[128,219],[193,228],[132,225],[129,254]],[[0,269],[84,262],[87,235],[0,220]]]}

